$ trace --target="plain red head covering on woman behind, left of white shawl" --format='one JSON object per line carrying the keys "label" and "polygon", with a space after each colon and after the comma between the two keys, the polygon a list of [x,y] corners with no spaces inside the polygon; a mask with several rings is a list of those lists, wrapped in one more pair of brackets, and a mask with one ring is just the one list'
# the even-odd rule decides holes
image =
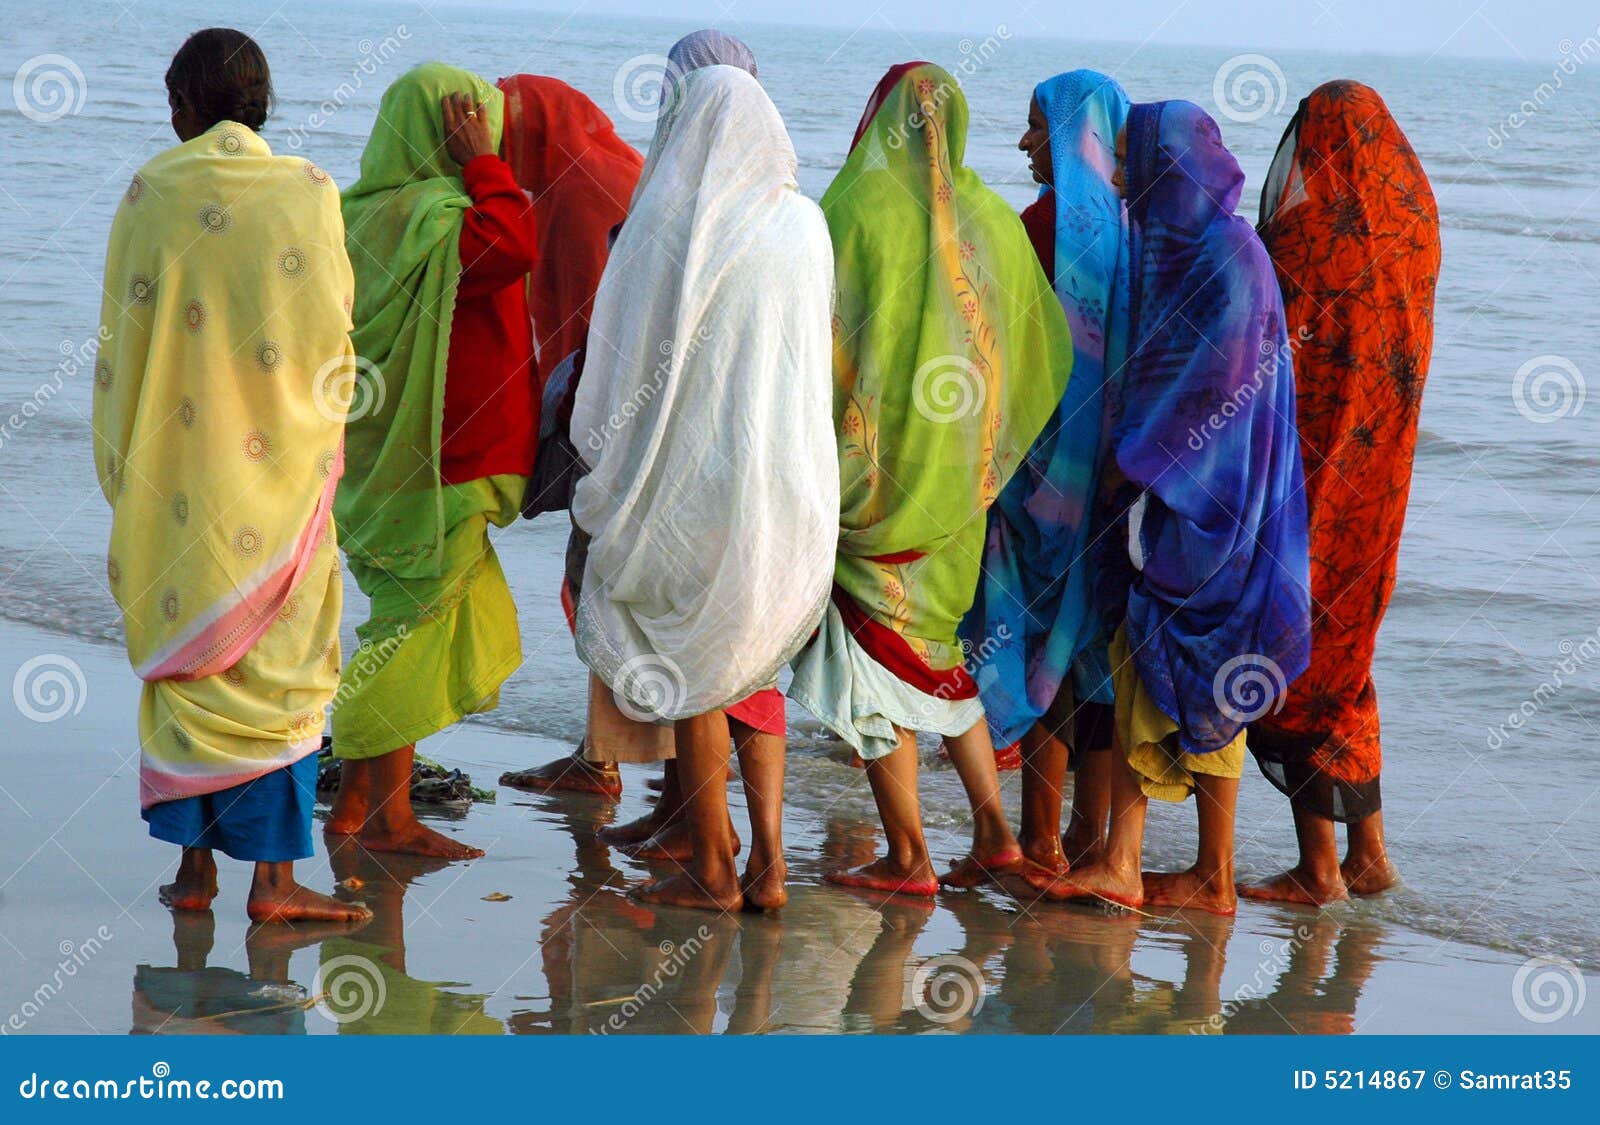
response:
{"label": "plain red head covering on woman behind, left of white shawl", "polygon": [[506,94],[506,163],[533,202],[539,262],[528,277],[538,386],[589,336],[611,227],[645,158],[586,94],[560,78],[515,74]]}

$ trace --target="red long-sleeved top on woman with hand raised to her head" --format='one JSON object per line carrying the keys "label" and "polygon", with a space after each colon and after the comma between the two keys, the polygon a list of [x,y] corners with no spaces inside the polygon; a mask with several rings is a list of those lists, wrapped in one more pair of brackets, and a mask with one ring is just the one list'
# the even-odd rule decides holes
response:
{"label": "red long-sleeved top on woman with hand raised to her head", "polygon": [[539,258],[533,208],[510,166],[482,155],[461,170],[472,208],[461,226],[461,286],[450,323],[440,478],[461,485],[528,475],[539,437],[528,272]]}

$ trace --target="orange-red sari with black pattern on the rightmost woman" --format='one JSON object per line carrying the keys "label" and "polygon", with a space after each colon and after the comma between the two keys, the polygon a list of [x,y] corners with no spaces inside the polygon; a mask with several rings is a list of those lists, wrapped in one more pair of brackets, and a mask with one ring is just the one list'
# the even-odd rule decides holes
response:
{"label": "orange-red sari with black pattern on the rightmost woman", "polygon": [[1381,807],[1373,648],[1395,584],[1440,258],[1434,192],[1376,91],[1330,82],[1301,102],[1259,232],[1296,347],[1312,656],[1250,747],[1298,808],[1358,821]]}

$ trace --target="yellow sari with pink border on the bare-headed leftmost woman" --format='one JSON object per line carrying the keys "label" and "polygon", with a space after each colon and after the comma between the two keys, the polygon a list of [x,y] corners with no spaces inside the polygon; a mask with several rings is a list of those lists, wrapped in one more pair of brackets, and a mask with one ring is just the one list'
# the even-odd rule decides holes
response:
{"label": "yellow sari with pink border on the bare-headed leftmost woman", "polygon": [[243,125],[150,160],[117,211],[94,462],[107,579],[146,680],[146,808],[320,744],[339,677],[352,296],[338,187]]}

